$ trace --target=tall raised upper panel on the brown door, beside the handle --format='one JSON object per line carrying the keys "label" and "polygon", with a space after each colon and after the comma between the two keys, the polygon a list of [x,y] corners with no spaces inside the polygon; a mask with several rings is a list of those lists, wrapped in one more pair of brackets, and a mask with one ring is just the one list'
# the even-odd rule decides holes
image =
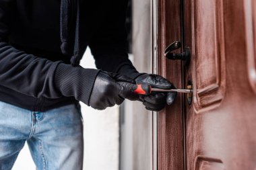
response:
{"label": "tall raised upper panel on the brown door, beside the handle", "polygon": [[223,9],[222,1],[191,2],[192,23],[185,29],[192,30],[193,104],[199,113],[216,108],[225,93]]}

